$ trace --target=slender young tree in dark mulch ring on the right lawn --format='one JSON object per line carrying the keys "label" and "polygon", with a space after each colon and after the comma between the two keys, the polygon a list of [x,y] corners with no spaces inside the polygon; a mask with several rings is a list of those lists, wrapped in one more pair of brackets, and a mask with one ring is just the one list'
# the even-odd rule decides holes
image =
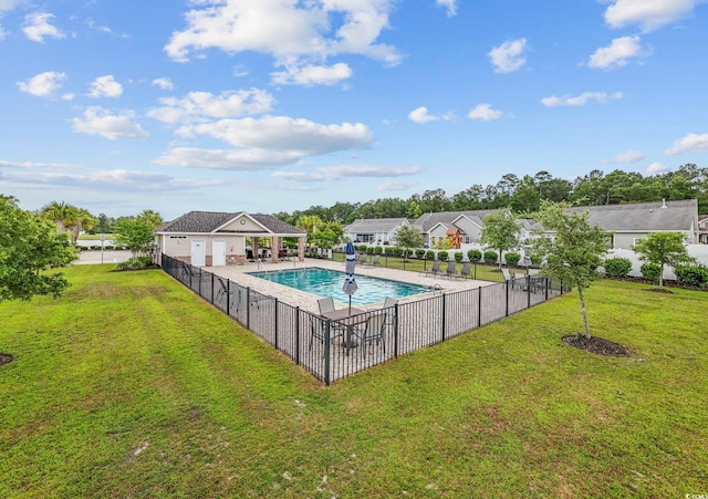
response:
{"label": "slender young tree in dark mulch ring on the right lawn", "polygon": [[544,273],[577,290],[585,337],[590,339],[585,290],[593,281],[603,278],[596,269],[602,266],[603,257],[611,247],[612,232],[591,226],[587,211],[570,211],[568,208],[565,204],[542,202],[535,219],[553,235],[535,231],[531,246],[534,253],[544,257]]}

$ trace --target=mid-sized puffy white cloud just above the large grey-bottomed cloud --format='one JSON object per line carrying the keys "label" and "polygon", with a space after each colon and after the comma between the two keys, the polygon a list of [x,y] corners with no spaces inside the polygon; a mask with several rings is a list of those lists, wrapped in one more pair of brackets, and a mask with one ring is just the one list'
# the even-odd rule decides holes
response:
{"label": "mid-sized puffy white cloud just above the large grey-bottomed cloud", "polygon": [[160,98],[162,107],[148,111],[147,115],[163,123],[191,123],[208,118],[229,118],[270,111],[273,96],[259,89],[222,92],[189,92],[185,97]]}

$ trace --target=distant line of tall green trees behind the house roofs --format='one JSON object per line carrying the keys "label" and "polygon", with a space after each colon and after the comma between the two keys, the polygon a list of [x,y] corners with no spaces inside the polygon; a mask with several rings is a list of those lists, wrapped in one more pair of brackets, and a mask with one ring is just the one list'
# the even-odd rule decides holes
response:
{"label": "distant line of tall green trees behind the house roofs", "polygon": [[305,210],[281,211],[274,216],[292,225],[303,216],[347,225],[360,218],[418,218],[436,211],[511,208],[517,215],[528,215],[538,211],[542,201],[596,206],[662,199],[698,199],[699,214],[708,214],[708,168],[686,164],[675,171],[650,176],[618,169],[605,175],[594,169],[574,180],[556,178],[548,171],[521,178],[507,174],[494,185],[475,184],[452,196],[444,189],[430,189],[414,194],[408,199],[336,202],[332,207],[311,206]]}

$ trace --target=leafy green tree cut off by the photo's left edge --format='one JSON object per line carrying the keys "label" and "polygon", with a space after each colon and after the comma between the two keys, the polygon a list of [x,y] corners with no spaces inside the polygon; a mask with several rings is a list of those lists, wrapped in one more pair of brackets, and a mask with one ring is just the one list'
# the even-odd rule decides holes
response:
{"label": "leafy green tree cut off by the photo's left edge", "polygon": [[60,233],[53,221],[20,209],[15,198],[0,195],[0,301],[59,297],[69,282],[61,272],[45,270],[65,267],[75,259],[66,232]]}

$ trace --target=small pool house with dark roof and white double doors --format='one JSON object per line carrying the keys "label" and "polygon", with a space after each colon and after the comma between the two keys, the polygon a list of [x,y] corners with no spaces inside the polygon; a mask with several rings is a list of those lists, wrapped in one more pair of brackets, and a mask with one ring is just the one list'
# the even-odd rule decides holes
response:
{"label": "small pool house with dark roof and white double doors", "polygon": [[[242,266],[263,254],[259,239],[268,239],[270,259],[283,257],[282,239],[298,238],[298,257],[304,259],[306,232],[271,215],[190,211],[155,230],[159,251],[195,267]],[[250,247],[248,246],[250,243]]]}

